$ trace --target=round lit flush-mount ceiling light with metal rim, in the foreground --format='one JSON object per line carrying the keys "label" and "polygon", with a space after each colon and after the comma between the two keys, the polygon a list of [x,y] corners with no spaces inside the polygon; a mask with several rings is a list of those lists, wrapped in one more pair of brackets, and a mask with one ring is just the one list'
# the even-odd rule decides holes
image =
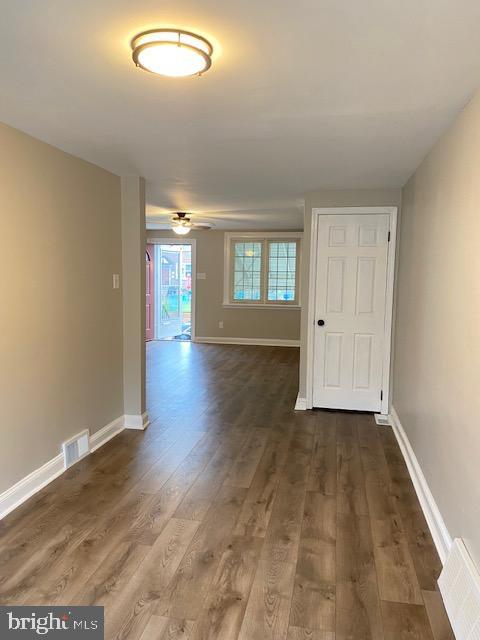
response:
{"label": "round lit flush-mount ceiling light with metal rim, in the foreground", "polygon": [[162,76],[179,78],[200,75],[212,64],[212,45],[190,31],[151,29],[132,40],[137,67]]}

